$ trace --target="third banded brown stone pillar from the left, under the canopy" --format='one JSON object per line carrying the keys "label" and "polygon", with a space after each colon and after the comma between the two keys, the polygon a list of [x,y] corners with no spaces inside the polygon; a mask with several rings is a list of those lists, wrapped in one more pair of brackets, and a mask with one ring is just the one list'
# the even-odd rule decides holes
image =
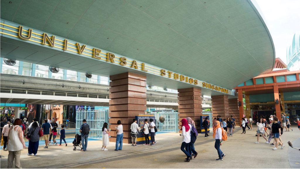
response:
{"label": "third banded brown stone pillar from the left, under the canopy", "polygon": [[220,115],[222,119],[228,118],[228,95],[211,96],[211,104],[213,117]]}

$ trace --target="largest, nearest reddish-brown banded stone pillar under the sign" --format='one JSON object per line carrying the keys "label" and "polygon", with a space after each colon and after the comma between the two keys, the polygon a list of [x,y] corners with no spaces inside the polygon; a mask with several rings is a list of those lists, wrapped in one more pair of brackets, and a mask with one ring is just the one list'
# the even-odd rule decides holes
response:
{"label": "largest, nearest reddish-brown banded stone pillar under the sign", "polygon": [[146,76],[126,72],[110,76],[110,141],[116,142],[117,121],[123,125],[123,143],[131,143],[132,119],[146,111]]}

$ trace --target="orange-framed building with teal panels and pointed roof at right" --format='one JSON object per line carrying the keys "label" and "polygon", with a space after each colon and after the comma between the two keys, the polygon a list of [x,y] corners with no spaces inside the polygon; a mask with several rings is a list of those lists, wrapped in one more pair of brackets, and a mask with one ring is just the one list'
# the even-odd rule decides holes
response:
{"label": "orange-framed building with teal panels and pointed roof at right", "polygon": [[238,92],[239,116],[244,114],[243,98],[247,118],[255,122],[261,116],[280,114],[289,116],[290,122],[300,116],[300,70],[289,71],[280,58],[275,59],[271,72],[247,80],[234,89]]}

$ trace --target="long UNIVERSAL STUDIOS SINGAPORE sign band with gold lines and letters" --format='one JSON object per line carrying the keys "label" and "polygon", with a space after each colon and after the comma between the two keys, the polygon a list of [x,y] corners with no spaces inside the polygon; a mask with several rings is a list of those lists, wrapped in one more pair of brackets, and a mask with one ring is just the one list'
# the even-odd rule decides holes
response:
{"label": "long UNIVERSAL STUDIOS SINGAPORE sign band with gold lines and letters", "polygon": [[[9,25],[8,25],[9,24]],[[212,85],[206,83],[201,80],[194,79],[192,77],[188,77],[182,74],[178,74],[176,72],[172,72],[170,70],[158,68],[154,65],[145,64],[143,62],[130,59],[124,56],[120,56],[111,52],[104,52],[101,49],[95,47],[88,47],[87,45],[80,44],[78,42],[73,43],[71,40],[57,38],[54,35],[48,35],[48,33],[42,33],[40,31],[34,31],[33,29],[25,29],[23,26],[16,25],[14,23],[1,20],[1,34],[2,36],[10,36],[16,37],[23,41],[31,41],[34,43],[38,43],[41,45],[47,45],[49,47],[58,48],[63,51],[68,51],[74,54],[85,55],[92,57],[94,59],[98,59],[110,64],[119,65],[119,66],[126,66],[132,69],[136,69],[139,71],[147,72],[150,74],[159,75],[165,78],[178,80],[183,83],[188,83],[191,85],[195,85],[198,87],[208,88],[211,90],[215,90],[222,93],[227,93],[232,95],[231,90],[221,88],[216,85]],[[16,29],[12,30],[12,29]],[[5,32],[4,32],[5,30]],[[7,33],[8,32],[8,33]],[[57,50],[57,49],[56,49]],[[119,57],[120,56],[120,57]]]}

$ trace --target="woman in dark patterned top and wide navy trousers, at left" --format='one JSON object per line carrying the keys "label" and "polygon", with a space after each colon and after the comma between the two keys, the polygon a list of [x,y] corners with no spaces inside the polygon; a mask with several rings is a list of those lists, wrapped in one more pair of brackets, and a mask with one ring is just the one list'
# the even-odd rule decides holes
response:
{"label": "woman in dark patterned top and wide navy trousers, at left", "polygon": [[37,122],[33,122],[31,128],[27,132],[27,134],[31,134],[28,145],[28,154],[27,155],[37,155],[38,152],[38,142],[40,140],[40,135],[38,134],[40,131],[40,127]]}

